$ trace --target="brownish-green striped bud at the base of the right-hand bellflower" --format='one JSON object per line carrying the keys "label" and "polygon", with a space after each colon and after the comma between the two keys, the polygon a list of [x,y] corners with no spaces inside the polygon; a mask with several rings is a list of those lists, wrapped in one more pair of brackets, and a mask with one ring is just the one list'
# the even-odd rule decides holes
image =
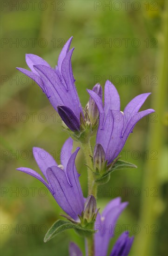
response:
{"label": "brownish-green striped bud at the base of the right-hand bellflower", "polygon": [[96,144],[94,147],[94,170],[96,168],[99,172],[103,171],[105,168],[105,152],[101,144]]}

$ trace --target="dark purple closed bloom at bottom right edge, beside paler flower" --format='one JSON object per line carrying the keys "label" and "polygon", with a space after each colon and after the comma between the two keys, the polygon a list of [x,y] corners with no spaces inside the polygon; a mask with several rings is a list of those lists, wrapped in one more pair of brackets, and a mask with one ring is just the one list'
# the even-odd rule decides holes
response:
{"label": "dark purple closed bloom at bottom right edge, beside paler flower", "polygon": [[110,256],[128,256],[131,249],[132,243],[134,241],[134,236],[129,237],[128,232],[124,232],[119,236],[114,247],[110,253]]}

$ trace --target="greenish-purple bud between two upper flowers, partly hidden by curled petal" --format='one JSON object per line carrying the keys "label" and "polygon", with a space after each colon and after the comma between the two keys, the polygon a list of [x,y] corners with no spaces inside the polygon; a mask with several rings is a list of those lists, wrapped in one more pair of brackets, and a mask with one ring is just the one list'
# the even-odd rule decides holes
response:
{"label": "greenish-purple bud between two upper flowers, partly hidden by curled petal", "polygon": [[[99,83],[96,84],[92,90],[102,99],[102,87]],[[89,115],[90,120],[93,122],[96,119],[98,119],[99,111],[98,111],[98,108],[91,96],[90,96],[89,102],[87,104],[88,104],[87,105],[88,106],[88,115]]]}

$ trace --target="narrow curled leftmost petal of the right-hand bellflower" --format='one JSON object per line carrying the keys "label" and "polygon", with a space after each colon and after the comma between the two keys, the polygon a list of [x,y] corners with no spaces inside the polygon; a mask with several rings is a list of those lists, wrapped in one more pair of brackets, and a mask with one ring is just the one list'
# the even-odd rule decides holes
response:
{"label": "narrow curled leftmost petal of the right-hand bellflower", "polygon": [[88,94],[94,99],[97,108],[99,110],[99,127],[102,128],[104,121],[104,110],[101,97],[99,97],[94,91],[87,89]]}

